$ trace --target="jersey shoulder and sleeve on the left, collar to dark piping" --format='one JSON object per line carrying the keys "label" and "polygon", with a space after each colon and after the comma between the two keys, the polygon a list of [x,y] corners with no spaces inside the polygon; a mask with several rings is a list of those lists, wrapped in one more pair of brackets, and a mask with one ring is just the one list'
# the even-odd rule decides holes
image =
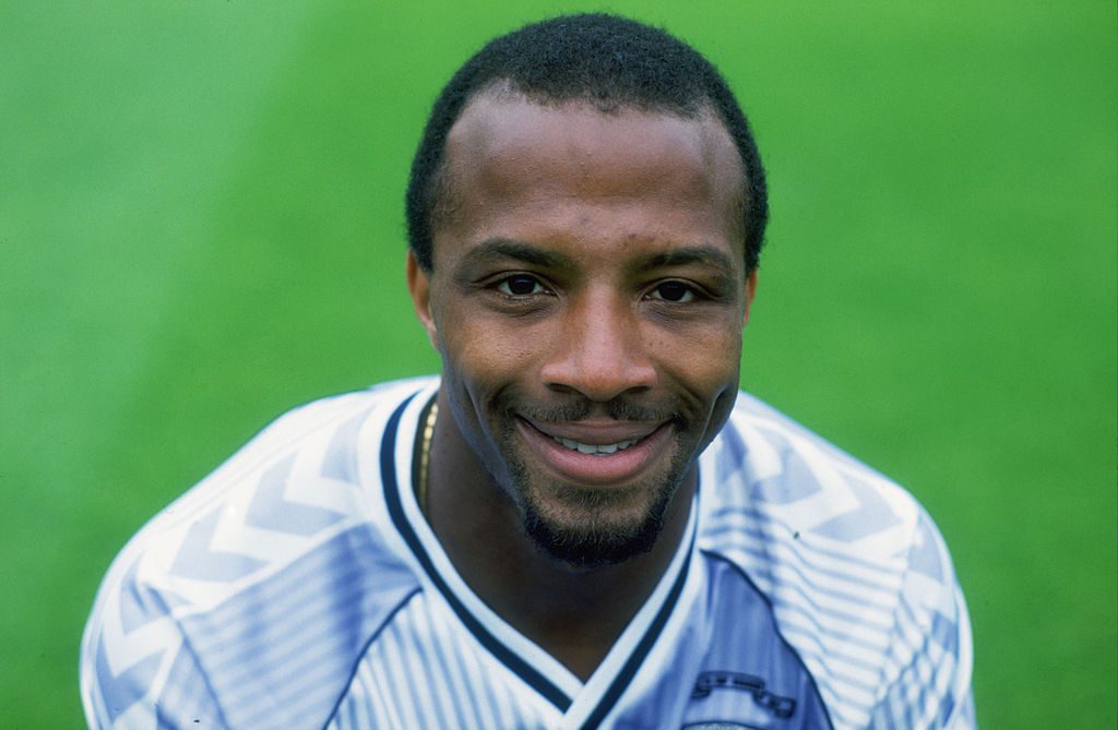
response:
{"label": "jersey shoulder and sleeve on the left, collar to dark piping", "polygon": [[[367,462],[390,415],[432,382],[385,383],[288,411],[144,525],[110,568],[86,625],[89,722],[190,727],[182,718],[193,714],[212,727],[286,723],[269,714],[287,712],[282,699],[269,709],[245,694],[276,671],[314,676],[313,686],[288,684],[300,707],[328,705],[360,650],[354,642],[415,586],[379,528]],[[353,645],[310,657],[301,648],[314,645],[309,632]]]}

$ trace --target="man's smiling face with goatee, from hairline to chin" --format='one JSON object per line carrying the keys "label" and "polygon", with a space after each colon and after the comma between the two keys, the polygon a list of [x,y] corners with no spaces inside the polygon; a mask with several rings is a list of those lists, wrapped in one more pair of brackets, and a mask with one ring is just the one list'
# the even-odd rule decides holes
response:
{"label": "man's smiling face with goatee, from hairline to chin", "polygon": [[555,557],[647,550],[729,415],[755,283],[740,164],[709,116],[485,94],[451,132],[409,284],[457,430]]}

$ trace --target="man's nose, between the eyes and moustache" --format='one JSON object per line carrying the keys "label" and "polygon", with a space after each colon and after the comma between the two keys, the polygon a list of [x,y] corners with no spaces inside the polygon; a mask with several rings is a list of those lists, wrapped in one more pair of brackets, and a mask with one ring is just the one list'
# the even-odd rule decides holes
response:
{"label": "man's nose, between the eyes and moustache", "polygon": [[540,371],[547,387],[605,402],[655,383],[637,313],[623,297],[606,293],[572,301],[558,324]]}

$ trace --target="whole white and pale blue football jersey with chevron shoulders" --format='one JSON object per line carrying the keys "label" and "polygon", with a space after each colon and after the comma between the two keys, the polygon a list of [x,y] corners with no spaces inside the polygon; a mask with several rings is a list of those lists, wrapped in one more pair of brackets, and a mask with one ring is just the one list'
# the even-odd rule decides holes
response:
{"label": "whole white and pale blue football jersey with chevron shoulders", "polygon": [[912,497],[741,394],[667,571],[586,682],[457,576],[411,492],[424,378],[262,432],[122,551],[95,728],[974,727],[950,557]]}

